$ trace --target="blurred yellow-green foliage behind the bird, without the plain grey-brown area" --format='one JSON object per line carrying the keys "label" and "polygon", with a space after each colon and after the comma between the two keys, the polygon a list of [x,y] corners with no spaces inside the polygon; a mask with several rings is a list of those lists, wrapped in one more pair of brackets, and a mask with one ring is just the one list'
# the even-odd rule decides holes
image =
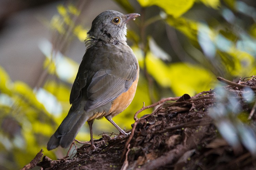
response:
{"label": "blurred yellow-green foliage behind the bird, without the plain grey-brown area", "polygon": [[[133,115],[143,102],[149,105],[184,93],[193,96],[214,88],[219,75],[236,79],[255,74],[253,0],[248,4],[239,0],[115,2],[124,13],[141,14],[134,21],[136,26],[128,26],[128,43],[141,71],[133,102],[114,118],[121,128],[131,129]],[[66,153],[61,148],[48,152],[46,143],[70,108],[69,94],[79,63],[64,54],[75,38],[83,42],[89,29],[79,24],[84,7],[80,3],[58,5],[58,14],[45,22],[54,36],[39,44],[45,61],[37,87],[12,82],[0,67],[0,169],[23,167],[41,148],[53,159]],[[88,129],[84,126],[76,139],[89,140]],[[102,131],[117,130],[105,119],[95,121],[94,137],[99,138],[96,135]]]}

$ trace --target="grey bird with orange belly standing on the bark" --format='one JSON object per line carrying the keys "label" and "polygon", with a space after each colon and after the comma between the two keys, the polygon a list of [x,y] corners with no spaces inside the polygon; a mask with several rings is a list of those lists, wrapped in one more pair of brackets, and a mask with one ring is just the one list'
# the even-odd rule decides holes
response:
{"label": "grey bird with orange belly standing on the bark", "polygon": [[133,100],[139,79],[139,65],[127,45],[126,24],[140,14],[109,10],[92,22],[85,40],[86,51],[70,93],[70,110],[47,143],[47,150],[69,147],[88,122],[91,149],[95,149],[92,125],[105,117],[121,135],[128,135],[112,118]]}

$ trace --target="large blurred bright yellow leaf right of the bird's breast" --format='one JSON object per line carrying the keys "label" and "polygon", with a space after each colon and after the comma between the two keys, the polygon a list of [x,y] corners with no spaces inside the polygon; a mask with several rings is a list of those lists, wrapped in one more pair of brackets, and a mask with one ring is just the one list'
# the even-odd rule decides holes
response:
{"label": "large blurred bright yellow leaf right of the bird's breast", "polygon": [[[144,68],[143,57],[141,51],[133,47],[139,65]],[[170,87],[175,95],[183,94],[194,95],[203,90],[212,88],[216,82],[215,76],[208,70],[188,63],[172,63],[165,64],[159,58],[149,52],[146,56],[147,71],[162,87]],[[196,76],[195,76],[196,75]]]}

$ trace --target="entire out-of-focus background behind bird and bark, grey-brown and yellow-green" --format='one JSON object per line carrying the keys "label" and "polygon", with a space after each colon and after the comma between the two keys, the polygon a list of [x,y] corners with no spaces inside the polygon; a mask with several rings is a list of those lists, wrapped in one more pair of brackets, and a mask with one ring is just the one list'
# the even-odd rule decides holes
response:
{"label": "entire out-of-focus background behind bird and bark, grey-brown and yellow-green", "polygon": [[[255,0],[0,0],[0,169],[22,168],[41,148],[51,159],[66,155],[46,143],[70,108],[86,33],[106,10],[141,14],[127,25],[141,71],[133,102],[113,119],[122,129],[131,129],[143,102],[256,73]],[[117,133],[105,118],[93,131]],[[87,123],[76,139],[89,140]]]}

